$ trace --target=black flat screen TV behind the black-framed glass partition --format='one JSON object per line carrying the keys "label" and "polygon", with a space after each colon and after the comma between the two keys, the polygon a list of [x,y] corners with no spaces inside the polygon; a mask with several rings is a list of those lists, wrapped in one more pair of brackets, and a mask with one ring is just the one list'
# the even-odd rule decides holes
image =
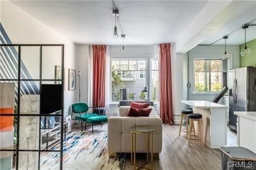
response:
{"label": "black flat screen TV behind the black-framed glass partition", "polygon": [[41,114],[51,114],[61,110],[61,84],[42,84]]}

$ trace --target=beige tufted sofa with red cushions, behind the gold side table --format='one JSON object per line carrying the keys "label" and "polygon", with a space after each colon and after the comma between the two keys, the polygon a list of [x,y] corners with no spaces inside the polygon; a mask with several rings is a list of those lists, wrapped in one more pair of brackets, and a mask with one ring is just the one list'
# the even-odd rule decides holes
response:
{"label": "beige tufted sofa with red cushions, behind the gold side table", "polygon": [[[159,158],[162,151],[162,120],[154,107],[149,117],[126,117],[130,107],[119,107],[119,117],[110,117],[108,120],[108,151],[112,157],[115,152],[130,152],[130,128],[134,126],[151,126],[153,133],[154,157]],[[146,134],[137,135],[136,152],[146,153]],[[151,145],[151,144],[150,144]]]}

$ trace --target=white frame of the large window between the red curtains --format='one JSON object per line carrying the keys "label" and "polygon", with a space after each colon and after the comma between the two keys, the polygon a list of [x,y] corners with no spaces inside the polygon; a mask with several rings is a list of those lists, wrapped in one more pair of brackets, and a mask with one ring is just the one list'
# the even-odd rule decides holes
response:
{"label": "white frame of the large window between the red curtains", "polygon": [[[145,70],[139,70],[138,69],[138,61],[146,61],[146,66],[145,66]],[[145,56],[145,58],[122,58],[122,57],[120,57],[120,58],[110,58],[110,87],[112,87],[112,61],[120,61],[119,62],[119,70],[120,71],[145,71],[145,78],[140,78],[140,77],[138,77],[137,79],[146,79],[146,84],[145,84],[145,86],[147,87],[147,90],[148,90],[148,93],[147,93],[147,95],[148,95],[148,99],[150,99],[150,86],[151,86],[151,84],[150,84],[150,80],[151,80],[151,71],[159,71],[159,70],[151,70],[151,61],[152,60],[158,60],[159,61],[159,59],[158,58],[148,58],[147,56]],[[121,70],[121,61],[128,61],[128,70]],[[129,70],[129,61],[137,61],[137,70]],[[140,74],[140,73],[139,73]],[[110,91],[110,95],[109,95],[109,97],[110,97],[110,99],[109,99],[109,101],[110,101],[110,104],[116,104],[116,103],[119,103],[119,101],[113,101],[112,100],[112,88],[110,88],[109,89],[109,91]]]}

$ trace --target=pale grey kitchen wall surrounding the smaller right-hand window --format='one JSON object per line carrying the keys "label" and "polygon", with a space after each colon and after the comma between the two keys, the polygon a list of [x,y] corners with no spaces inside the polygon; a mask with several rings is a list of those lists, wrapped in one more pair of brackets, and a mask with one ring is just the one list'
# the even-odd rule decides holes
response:
{"label": "pale grey kitchen wall surrounding the smaller right-hand window", "polygon": [[[227,45],[227,52],[232,55],[232,59],[228,60],[228,69],[238,68],[240,65],[240,48],[239,45]],[[189,73],[188,80],[191,84],[189,87],[189,100],[207,100],[212,101],[216,94],[193,94],[193,59],[195,58],[222,58],[224,53],[224,45],[196,46],[189,50]]]}

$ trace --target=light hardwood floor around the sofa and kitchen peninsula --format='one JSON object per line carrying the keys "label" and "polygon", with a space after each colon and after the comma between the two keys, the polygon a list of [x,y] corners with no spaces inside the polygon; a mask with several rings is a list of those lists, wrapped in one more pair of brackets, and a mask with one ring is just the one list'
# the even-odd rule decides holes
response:
{"label": "light hardwood floor around the sofa and kitchen peninsula", "polygon": [[[81,126],[77,128],[79,129],[72,129],[72,131],[81,130]],[[107,126],[104,125],[103,128],[106,130]],[[101,130],[101,126],[95,126],[94,129]],[[91,126],[88,126],[86,130],[92,130]],[[233,146],[234,141],[236,141],[236,134],[228,131],[228,145]],[[154,169],[221,169],[220,153],[220,150],[201,146],[199,141],[194,140],[191,141],[191,147],[189,147],[185,133],[181,132],[179,137],[179,125],[163,125],[162,152],[159,160],[154,160]],[[146,154],[137,154],[138,163],[144,163],[145,160]],[[127,154],[125,170],[133,168],[133,165],[130,165],[130,154]]]}

